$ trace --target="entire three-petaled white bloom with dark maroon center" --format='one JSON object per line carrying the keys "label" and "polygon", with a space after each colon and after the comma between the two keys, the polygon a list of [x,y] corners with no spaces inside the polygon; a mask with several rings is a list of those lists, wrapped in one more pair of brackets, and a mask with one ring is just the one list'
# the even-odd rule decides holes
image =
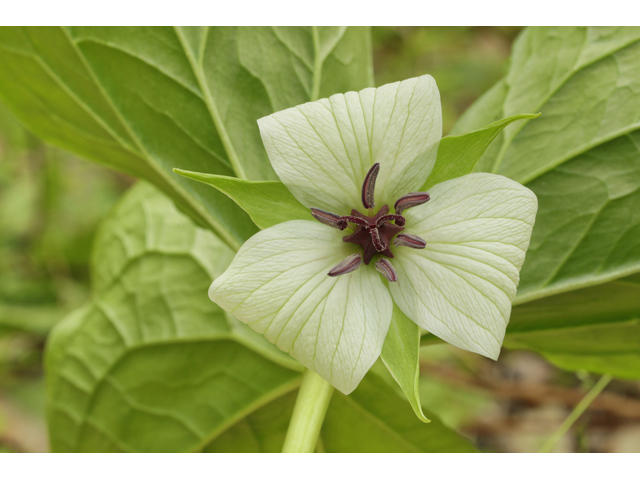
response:
{"label": "entire three-petaled white bloom with dark maroon center", "polygon": [[445,341],[498,357],[537,200],[485,173],[421,191],[442,136],[432,77],[258,124],[273,168],[315,220],[250,238],[211,285],[213,301],[343,393],[380,355],[394,302]]}

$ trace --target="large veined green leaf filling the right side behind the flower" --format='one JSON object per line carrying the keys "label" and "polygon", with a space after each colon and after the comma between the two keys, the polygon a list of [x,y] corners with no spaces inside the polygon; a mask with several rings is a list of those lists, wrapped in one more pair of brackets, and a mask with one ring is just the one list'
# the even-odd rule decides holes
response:
{"label": "large veined green leaf filling the right side behind the flower", "polygon": [[454,129],[542,112],[507,127],[476,166],[524,183],[539,201],[505,345],[636,377],[637,360],[614,357],[628,354],[639,334],[638,292],[615,281],[640,272],[638,84],[640,28],[529,28],[506,77]]}

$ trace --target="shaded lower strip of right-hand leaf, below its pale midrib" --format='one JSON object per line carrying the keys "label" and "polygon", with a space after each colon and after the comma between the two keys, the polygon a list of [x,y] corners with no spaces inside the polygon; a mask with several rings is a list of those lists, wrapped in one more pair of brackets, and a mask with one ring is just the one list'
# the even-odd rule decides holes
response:
{"label": "shaded lower strip of right-hand leaf, below its pale midrib", "polygon": [[640,378],[640,274],[514,307],[504,345],[569,370]]}

